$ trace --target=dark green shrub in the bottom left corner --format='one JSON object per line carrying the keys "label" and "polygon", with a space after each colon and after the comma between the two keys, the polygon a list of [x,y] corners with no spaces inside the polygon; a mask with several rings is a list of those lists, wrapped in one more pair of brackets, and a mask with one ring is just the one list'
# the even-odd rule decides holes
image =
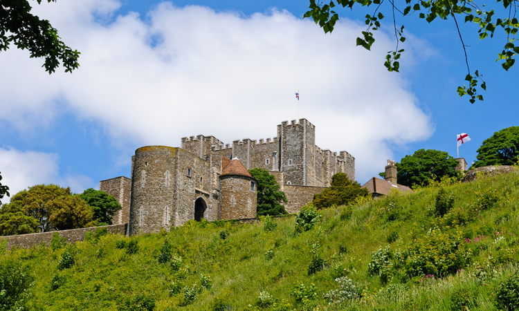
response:
{"label": "dark green shrub in the bottom left corner", "polygon": [[33,285],[28,267],[16,261],[0,263],[0,310],[23,310]]}

